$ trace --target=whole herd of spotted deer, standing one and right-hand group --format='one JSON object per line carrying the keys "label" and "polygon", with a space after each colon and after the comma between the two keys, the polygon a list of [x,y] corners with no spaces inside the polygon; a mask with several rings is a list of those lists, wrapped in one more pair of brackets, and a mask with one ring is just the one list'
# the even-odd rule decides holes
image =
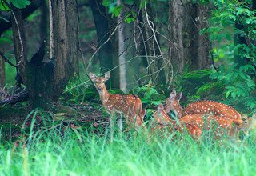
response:
{"label": "whole herd of spotted deer, standing one and right-hand group", "polygon": [[[90,79],[94,82],[108,114],[116,117],[115,114],[122,113],[128,129],[145,130],[143,117],[146,110],[142,108],[140,98],[132,94],[110,94],[105,86],[109,78],[110,72],[107,72],[104,77],[96,77],[95,74],[90,73]],[[199,139],[203,130],[211,130],[215,134],[214,138],[222,138],[222,135],[227,134],[229,138],[237,139],[240,130],[248,133],[248,130],[256,128],[256,117],[242,120],[241,114],[231,106],[214,101],[200,101],[182,108],[179,103],[180,98],[182,93],[176,94],[173,90],[170,98],[166,100],[166,105],[158,105],[158,110],[153,114],[150,134],[156,131],[168,130],[170,133],[179,131],[181,134],[187,132],[192,138]],[[169,117],[170,111],[174,112],[178,120]],[[114,118],[110,118],[110,129],[113,127]],[[118,129],[122,131],[122,118],[118,118]]]}

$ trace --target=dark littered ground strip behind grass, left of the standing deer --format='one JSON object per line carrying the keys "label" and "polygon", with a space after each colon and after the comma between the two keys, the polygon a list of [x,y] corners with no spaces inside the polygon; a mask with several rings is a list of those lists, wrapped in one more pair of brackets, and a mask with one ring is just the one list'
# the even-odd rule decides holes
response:
{"label": "dark littered ground strip behind grass, left of the standing deer", "polygon": [[[100,104],[93,102],[69,104],[69,106],[63,106],[62,102],[58,102],[58,107],[52,111],[32,110],[26,102],[14,106],[2,106],[0,109],[0,134],[5,140],[15,141],[20,137],[22,131],[30,129],[32,123],[35,123],[34,126],[42,127],[43,120],[54,122],[54,126],[63,125],[71,128],[93,126],[94,131],[97,132],[104,130],[109,123],[109,117],[103,114],[100,107]],[[50,128],[53,124],[49,125]]]}

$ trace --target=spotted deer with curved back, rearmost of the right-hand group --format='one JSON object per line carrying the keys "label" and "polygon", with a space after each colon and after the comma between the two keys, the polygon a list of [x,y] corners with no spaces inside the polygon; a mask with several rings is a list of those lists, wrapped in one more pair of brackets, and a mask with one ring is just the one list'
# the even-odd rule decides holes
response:
{"label": "spotted deer with curved back, rearmost of the right-hand group", "polygon": [[190,105],[186,106],[186,108],[182,108],[182,106],[179,104],[181,97],[182,92],[176,94],[176,91],[173,90],[170,93],[170,98],[167,98],[166,100],[166,113],[174,111],[174,114],[176,114],[178,118],[182,118],[183,116],[189,114],[212,114],[220,118],[238,120],[237,123],[241,122],[241,114],[239,114],[238,111],[234,110],[234,108],[231,106],[214,101],[199,101],[192,102]]}

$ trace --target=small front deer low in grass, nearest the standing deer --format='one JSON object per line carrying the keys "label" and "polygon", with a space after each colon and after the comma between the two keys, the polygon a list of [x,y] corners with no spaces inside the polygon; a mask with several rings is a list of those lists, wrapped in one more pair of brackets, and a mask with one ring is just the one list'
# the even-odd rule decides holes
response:
{"label": "small front deer low in grass, nearest the standing deer", "polygon": [[179,131],[180,133],[184,133],[186,130],[188,134],[194,139],[200,138],[202,134],[202,130],[189,122],[176,122],[166,114],[164,107],[162,104],[158,105],[158,111],[153,114],[153,126],[151,126],[150,133],[154,133],[155,131],[165,132],[164,130],[168,130],[170,133],[174,131]]}

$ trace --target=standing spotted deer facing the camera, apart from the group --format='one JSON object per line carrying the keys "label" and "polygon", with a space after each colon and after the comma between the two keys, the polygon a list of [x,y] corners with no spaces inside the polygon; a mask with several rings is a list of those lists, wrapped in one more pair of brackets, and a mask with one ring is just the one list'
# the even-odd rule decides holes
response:
{"label": "standing spotted deer facing the camera, apart from the group", "polygon": [[[135,126],[135,130],[139,130],[143,125],[143,115],[145,110],[142,110],[142,102],[137,95],[127,94],[110,94],[106,90],[105,82],[110,78],[110,72],[107,72],[104,77],[96,77],[90,73],[90,79],[94,82],[96,90],[101,98],[102,105],[105,107],[110,118],[110,130],[114,127],[114,114],[122,113],[126,119],[129,128]],[[118,118],[118,127],[122,131],[122,118]]]}

